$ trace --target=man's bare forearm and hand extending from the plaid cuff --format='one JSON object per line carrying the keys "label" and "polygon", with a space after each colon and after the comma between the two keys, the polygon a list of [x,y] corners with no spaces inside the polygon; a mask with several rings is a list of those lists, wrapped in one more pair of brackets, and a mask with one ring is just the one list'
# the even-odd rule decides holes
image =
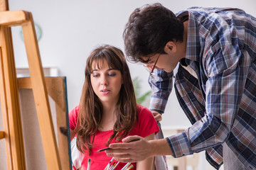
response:
{"label": "man's bare forearm and hand extending from the plaid cuff", "polygon": [[[134,139],[136,142],[129,142]],[[108,157],[114,157],[119,162],[139,162],[157,155],[172,155],[166,139],[144,140],[143,137],[129,136],[122,140],[122,143],[110,144],[106,151]]]}

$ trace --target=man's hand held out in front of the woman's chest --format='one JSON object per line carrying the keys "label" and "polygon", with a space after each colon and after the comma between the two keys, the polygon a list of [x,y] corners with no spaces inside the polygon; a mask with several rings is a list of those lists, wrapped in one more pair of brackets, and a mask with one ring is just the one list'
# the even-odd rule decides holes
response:
{"label": "man's hand held out in front of the woman's chest", "polygon": [[[130,142],[134,139],[138,141]],[[143,137],[129,136],[122,140],[122,143],[114,143],[107,150],[108,157],[114,157],[119,162],[139,162],[152,157],[150,142]]]}

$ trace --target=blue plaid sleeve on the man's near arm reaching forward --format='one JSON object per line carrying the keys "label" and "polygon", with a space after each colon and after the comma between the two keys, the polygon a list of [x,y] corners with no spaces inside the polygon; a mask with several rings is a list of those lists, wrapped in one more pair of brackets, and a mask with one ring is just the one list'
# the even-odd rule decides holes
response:
{"label": "blue plaid sleeve on the man's near arm reaching forward", "polygon": [[[228,26],[227,26],[228,27]],[[245,87],[247,73],[252,61],[235,41],[230,28],[223,27],[216,33],[219,40],[206,44],[204,59],[205,74],[208,79],[203,84],[206,92],[206,113],[190,128],[177,135],[167,137],[174,157],[201,152],[220,145],[227,140]],[[208,37],[206,42],[216,40]],[[231,42],[232,41],[232,42]]]}

